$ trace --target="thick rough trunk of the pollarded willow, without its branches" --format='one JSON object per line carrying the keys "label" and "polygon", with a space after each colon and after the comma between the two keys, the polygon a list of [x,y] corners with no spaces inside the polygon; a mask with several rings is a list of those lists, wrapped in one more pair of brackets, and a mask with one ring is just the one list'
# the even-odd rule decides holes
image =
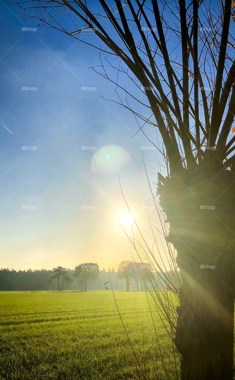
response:
{"label": "thick rough trunk of the pollarded willow, without its branches", "polygon": [[233,379],[234,180],[219,166],[159,186],[182,280],[175,336],[181,380]]}

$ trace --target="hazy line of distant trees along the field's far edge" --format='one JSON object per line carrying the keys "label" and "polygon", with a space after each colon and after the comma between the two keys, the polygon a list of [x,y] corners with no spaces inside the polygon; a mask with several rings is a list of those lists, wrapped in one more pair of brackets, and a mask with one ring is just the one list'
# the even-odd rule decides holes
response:
{"label": "hazy line of distant trees along the field's far edge", "polygon": [[151,276],[158,277],[148,263],[122,261],[117,271],[105,270],[97,263],[83,263],[74,270],[58,266],[52,270],[27,269],[15,271],[0,270],[1,291],[38,291],[38,290],[145,290]]}

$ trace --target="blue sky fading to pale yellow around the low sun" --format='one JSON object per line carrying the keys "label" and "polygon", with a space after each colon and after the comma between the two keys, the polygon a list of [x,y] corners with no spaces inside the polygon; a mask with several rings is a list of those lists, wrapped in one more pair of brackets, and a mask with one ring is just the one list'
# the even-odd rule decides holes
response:
{"label": "blue sky fading to pale yellow around the low sun", "polygon": [[[98,51],[54,30],[22,30],[17,8],[0,7],[1,266],[116,268],[131,258],[120,227],[127,207],[118,173],[151,245],[148,213],[158,220],[148,209],[141,146],[151,182],[161,158],[143,134],[132,138],[132,114],[100,97],[100,90],[106,98],[115,94],[89,68],[100,65]],[[154,131],[148,135],[156,139]]]}

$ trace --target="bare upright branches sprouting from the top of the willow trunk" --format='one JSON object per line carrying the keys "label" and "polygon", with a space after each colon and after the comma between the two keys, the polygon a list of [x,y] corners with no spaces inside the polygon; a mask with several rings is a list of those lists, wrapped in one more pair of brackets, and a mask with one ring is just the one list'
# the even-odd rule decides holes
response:
{"label": "bare upright branches sprouting from the top of the willow trunk", "polygon": [[[171,174],[211,154],[233,170],[234,4],[231,0],[17,0],[36,19],[110,54],[98,71],[117,104],[160,132]],[[102,41],[99,46],[97,41]],[[125,88],[125,81],[130,81]],[[122,94],[124,93],[124,99]],[[132,103],[140,108],[135,110]],[[205,148],[210,147],[211,149]],[[158,149],[162,152],[160,145]],[[163,152],[162,152],[163,153]]]}

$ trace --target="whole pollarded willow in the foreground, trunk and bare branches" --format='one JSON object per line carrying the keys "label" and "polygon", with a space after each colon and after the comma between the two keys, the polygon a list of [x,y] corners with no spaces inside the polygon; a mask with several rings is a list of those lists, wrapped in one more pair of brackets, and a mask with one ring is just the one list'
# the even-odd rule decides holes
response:
{"label": "whole pollarded willow in the foreground, trunk and bare branches", "polygon": [[99,49],[101,62],[109,53],[94,70],[113,82],[114,101],[133,112],[140,133],[146,135],[146,125],[156,128],[153,144],[167,168],[158,193],[182,279],[175,326],[181,378],[232,379],[235,3],[16,3],[27,22],[37,19]]}

